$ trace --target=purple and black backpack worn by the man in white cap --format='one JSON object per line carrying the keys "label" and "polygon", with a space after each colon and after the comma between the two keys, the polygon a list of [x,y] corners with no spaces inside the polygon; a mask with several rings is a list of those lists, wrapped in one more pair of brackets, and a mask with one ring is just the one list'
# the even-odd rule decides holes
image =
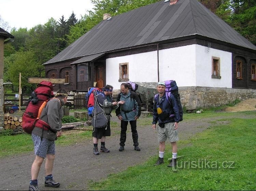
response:
{"label": "purple and black backpack worn by the man in white cap", "polygon": [[[181,97],[180,97],[180,94],[179,94],[179,88],[176,84],[176,82],[174,80],[166,80],[165,81],[165,95],[166,95],[166,98],[167,98],[167,101],[169,102],[169,104],[171,104],[169,98],[170,98],[170,93],[173,94],[176,102],[177,102],[177,105],[178,105],[178,108],[179,108],[179,112],[180,112],[180,117],[181,117],[181,120],[183,120],[183,109],[182,109],[182,105],[181,105]],[[155,101],[157,99],[157,95],[155,95]]]}

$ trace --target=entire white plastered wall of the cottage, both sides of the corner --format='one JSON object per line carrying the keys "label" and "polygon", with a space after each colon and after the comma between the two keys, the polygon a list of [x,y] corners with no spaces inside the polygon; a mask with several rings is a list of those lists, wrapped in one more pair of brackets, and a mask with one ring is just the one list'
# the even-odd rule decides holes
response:
{"label": "entire white plastered wall of the cottage, both sides of the corner", "polygon": [[[232,88],[230,52],[201,45],[159,50],[159,80],[175,80],[179,87],[202,86]],[[212,56],[220,58],[221,79],[213,79]],[[106,84],[119,89],[119,63],[129,63],[129,80],[157,82],[157,51],[106,59]]]}

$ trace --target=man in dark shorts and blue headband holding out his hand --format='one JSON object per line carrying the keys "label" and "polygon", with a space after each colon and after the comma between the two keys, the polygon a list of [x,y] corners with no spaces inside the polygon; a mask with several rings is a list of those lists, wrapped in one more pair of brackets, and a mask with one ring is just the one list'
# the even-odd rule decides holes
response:
{"label": "man in dark shorts and blue headband holding out his hand", "polygon": [[112,102],[113,86],[106,85],[102,92],[94,92],[94,108],[92,110],[92,125],[93,129],[93,153],[99,155],[98,141],[101,139],[100,152],[109,153],[110,150],[105,147],[106,136],[110,136],[110,117],[113,108],[118,107],[123,102]]}

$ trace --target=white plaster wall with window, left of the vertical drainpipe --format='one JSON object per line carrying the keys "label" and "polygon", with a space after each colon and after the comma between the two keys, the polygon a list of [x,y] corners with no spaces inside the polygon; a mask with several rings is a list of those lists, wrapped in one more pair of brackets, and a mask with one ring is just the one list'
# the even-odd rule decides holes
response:
{"label": "white plaster wall with window, left of the vertical drainpipe", "polygon": [[129,63],[129,80],[157,82],[157,51],[106,59],[106,84],[120,89],[119,63]]}

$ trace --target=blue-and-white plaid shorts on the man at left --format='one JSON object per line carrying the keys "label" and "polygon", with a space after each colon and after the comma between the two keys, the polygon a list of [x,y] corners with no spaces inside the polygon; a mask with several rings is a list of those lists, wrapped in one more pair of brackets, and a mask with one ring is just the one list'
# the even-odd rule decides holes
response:
{"label": "blue-and-white plaid shorts on the man at left", "polygon": [[38,135],[32,134],[34,142],[35,155],[42,158],[46,157],[46,154],[55,155],[55,142],[46,138],[42,138]]}

